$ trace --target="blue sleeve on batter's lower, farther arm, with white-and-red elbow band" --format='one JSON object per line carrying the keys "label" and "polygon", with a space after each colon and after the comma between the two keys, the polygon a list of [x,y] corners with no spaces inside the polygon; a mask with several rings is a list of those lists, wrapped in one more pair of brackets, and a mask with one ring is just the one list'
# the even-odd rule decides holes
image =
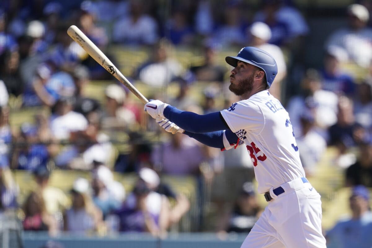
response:
{"label": "blue sleeve on batter's lower, farther arm, with white-and-red elbow band", "polygon": [[[204,145],[220,149],[225,147],[223,142],[224,131],[215,131],[209,133],[191,133],[185,131],[184,133]],[[225,135],[230,144],[235,144],[238,140],[238,136],[236,136],[236,134],[233,133],[231,130],[226,130]]]}

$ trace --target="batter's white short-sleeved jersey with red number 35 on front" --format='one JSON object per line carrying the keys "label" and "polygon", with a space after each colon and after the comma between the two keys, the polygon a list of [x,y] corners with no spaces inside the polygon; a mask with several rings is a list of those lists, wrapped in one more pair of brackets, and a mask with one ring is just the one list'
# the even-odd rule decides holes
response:
{"label": "batter's white short-sleeved jersey with red number 35 on front", "polygon": [[305,177],[288,112],[269,91],[234,103],[221,114],[247,147],[259,193]]}

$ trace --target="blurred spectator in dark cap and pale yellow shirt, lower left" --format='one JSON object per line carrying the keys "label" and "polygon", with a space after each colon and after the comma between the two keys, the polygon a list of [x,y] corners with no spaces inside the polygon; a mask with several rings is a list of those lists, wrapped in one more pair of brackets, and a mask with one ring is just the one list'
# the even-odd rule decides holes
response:
{"label": "blurred spectator in dark cap and pale yellow shirt, lower left", "polygon": [[46,212],[55,216],[55,218],[60,221],[62,213],[69,204],[67,196],[61,189],[50,186],[49,179],[51,171],[46,167],[36,168],[36,170],[33,171],[33,176],[38,185],[38,191],[43,198]]}

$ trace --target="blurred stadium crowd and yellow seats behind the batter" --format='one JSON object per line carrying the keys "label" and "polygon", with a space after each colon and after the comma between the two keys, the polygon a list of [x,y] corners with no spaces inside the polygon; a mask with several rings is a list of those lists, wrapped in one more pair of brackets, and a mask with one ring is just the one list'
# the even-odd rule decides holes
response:
{"label": "blurred stadium crowd and yellow seats behind the batter", "polygon": [[226,55],[273,55],[322,196],[327,247],[372,247],[368,0],[2,0],[0,247],[240,247],[266,206],[244,148],[170,135],[67,35],[78,26],[147,97],[238,101]]}

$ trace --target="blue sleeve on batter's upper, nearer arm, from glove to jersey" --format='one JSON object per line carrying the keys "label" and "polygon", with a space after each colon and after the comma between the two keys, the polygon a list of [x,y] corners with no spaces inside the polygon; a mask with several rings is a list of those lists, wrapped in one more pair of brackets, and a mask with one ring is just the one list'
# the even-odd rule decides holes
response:
{"label": "blue sleeve on batter's upper, nearer arm, from glove to jersey", "polygon": [[192,133],[208,133],[230,129],[219,112],[198,115],[169,105],[164,109],[163,114],[180,128]]}

